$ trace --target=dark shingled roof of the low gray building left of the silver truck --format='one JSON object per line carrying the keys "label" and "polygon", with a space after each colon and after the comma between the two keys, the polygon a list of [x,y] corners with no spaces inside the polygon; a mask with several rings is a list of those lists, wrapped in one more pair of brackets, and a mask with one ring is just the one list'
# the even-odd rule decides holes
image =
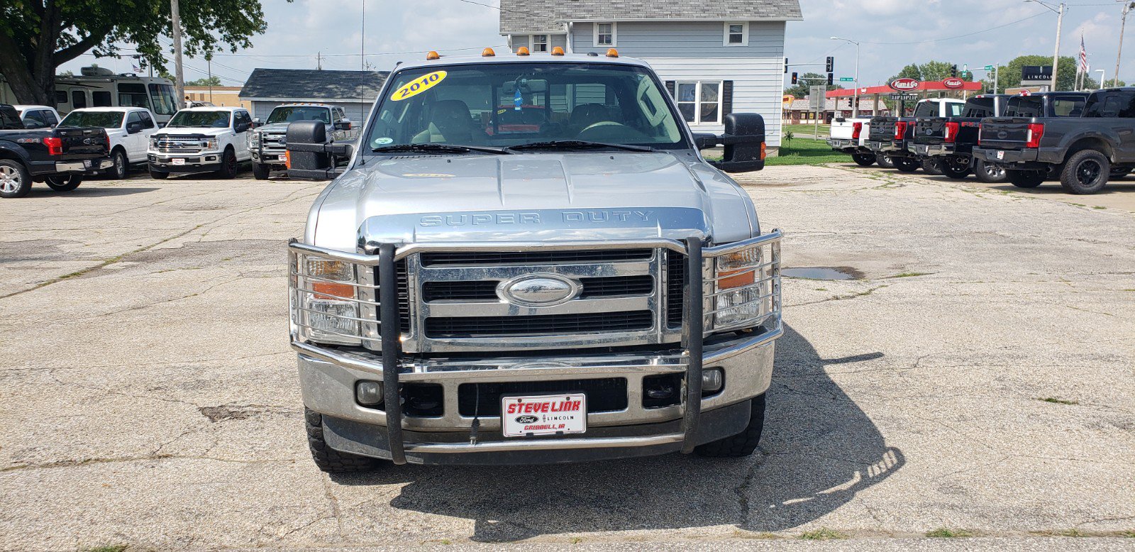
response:
{"label": "dark shingled roof of the low gray building left of the silver truck", "polygon": [[378,97],[389,72],[375,70],[318,70],[318,69],[252,69],[242,99],[284,98],[311,100],[358,100]]}

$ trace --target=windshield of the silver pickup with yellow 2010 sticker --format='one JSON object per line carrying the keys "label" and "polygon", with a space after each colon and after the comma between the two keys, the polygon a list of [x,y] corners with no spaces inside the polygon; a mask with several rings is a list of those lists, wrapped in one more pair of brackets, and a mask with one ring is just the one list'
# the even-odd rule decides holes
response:
{"label": "windshield of the silver pickup with yellow 2010 sticker", "polygon": [[611,64],[478,64],[400,72],[368,144],[511,147],[558,140],[683,149],[649,70]]}

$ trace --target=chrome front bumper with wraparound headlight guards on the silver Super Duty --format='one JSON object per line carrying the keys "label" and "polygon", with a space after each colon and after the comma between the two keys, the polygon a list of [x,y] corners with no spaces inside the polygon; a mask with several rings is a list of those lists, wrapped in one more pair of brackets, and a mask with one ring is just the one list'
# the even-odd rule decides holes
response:
{"label": "chrome front bumper with wraparound headlight guards on the silver Super Duty", "polygon": [[[687,257],[686,307],[681,343],[651,346],[650,350],[657,350],[657,353],[553,356],[541,351],[526,358],[493,358],[486,354],[487,358],[474,359],[448,356],[444,357],[444,360],[435,357],[406,356],[400,346],[402,336],[397,290],[393,285],[379,285],[377,286],[379,308],[375,310],[378,311],[380,321],[380,352],[356,348],[331,349],[308,343],[300,337],[299,327],[293,324],[292,346],[300,353],[304,404],[323,415],[325,421],[328,423],[327,442],[330,446],[359,454],[388,458],[395,463],[434,462],[436,460],[430,458],[436,458],[438,454],[568,449],[609,451],[641,448],[651,451],[649,453],[672,450],[692,452],[696,445],[707,440],[743,430],[745,424],[748,423],[748,413],[739,405],[747,404],[748,400],[768,388],[772,378],[773,341],[783,334],[780,303],[780,240],[781,233],[774,231],[743,242],[709,248],[705,254],[700,237],[689,237],[684,242],[675,241],[667,244],[681,248]],[[759,266],[772,267],[768,275],[772,286],[768,295],[772,298],[772,315],[762,326],[751,331],[718,331],[720,333],[707,335],[706,316],[711,316],[712,319],[712,313],[716,312],[716,309],[712,301],[708,309],[706,304],[709,295],[705,293],[704,286],[705,259],[760,245],[767,245],[771,250],[770,260]],[[322,250],[295,242],[291,244],[291,249],[304,254],[377,266],[379,282],[396,281],[396,252],[402,251],[394,244],[380,244],[377,254],[363,256]],[[554,345],[549,345],[548,349],[565,352],[572,350]],[[387,366],[398,368],[384,369]],[[721,368],[724,371],[723,390],[711,396],[703,396],[701,392],[704,366]],[[642,379],[662,374],[683,376],[678,393],[679,402],[670,407],[646,408],[642,401]],[[620,411],[588,413],[588,426],[596,430],[589,429],[587,436],[504,440],[501,436],[498,418],[478,419],[462,416],[459,410],[457,386],[463,383],[581,378],[627,380],[627,407]],[[385,410],[364,408],[355,402],[355,384],[362,379],[382,382]],[[443,415],[403,416],[401,383],[442,385]],[[720,412],[709,419],[707,427],[699,427],[703,411],[714,410]],[[371,429],[368,430],[368,427]],[[622,455],[642,453],[640,450]],[[487,457],[482,458],[486,458],[488,463],[496,463]],[[533,458],[519,460],[511,458],[510,462],[513,463],[541,461]]]}

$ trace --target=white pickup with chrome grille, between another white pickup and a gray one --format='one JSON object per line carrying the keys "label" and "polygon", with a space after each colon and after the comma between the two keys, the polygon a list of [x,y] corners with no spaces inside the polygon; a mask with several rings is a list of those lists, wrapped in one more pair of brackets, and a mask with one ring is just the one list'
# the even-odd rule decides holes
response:
{"label": "white pickup with chrome grille, between another white pickup and a gray one", "polygon": [[235,178],[239,164],[252,159],[249,152],[249,110],[236,107],[186,108],[169,124],[150,136],[146,158],[150,176],[215,173]]}

